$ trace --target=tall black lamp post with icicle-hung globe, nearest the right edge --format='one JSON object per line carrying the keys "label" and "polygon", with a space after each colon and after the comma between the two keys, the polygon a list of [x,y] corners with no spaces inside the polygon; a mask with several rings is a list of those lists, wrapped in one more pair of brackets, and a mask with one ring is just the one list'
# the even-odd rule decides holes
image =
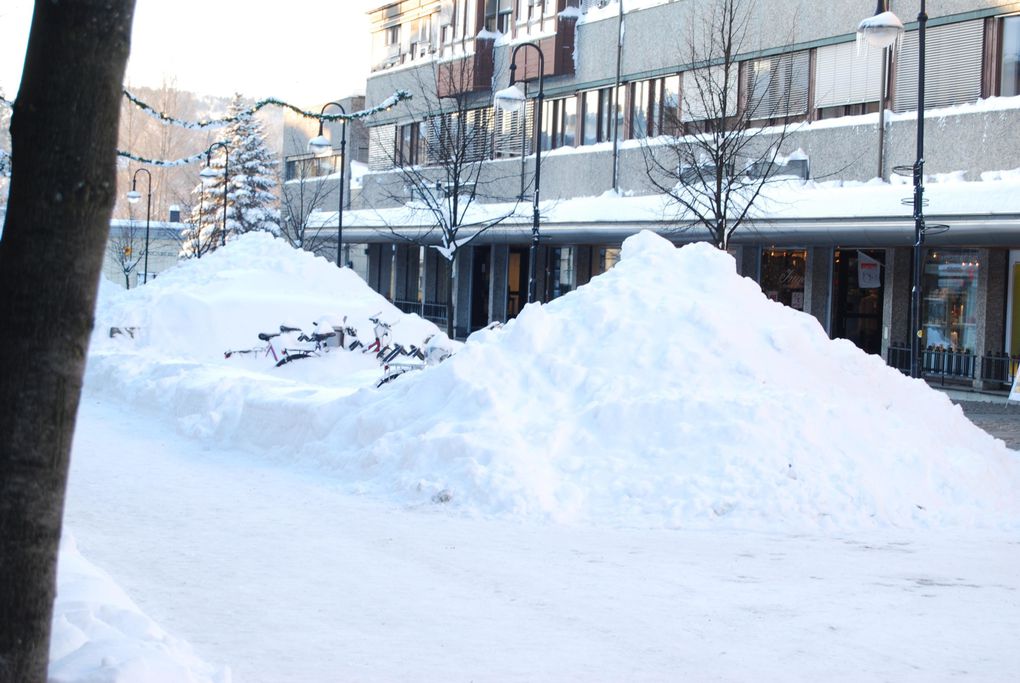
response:
{"label": "tall black lamp post with icicle-hung globe, nearest the right edge", "polygon": [[[917,155],[914,160],[914,254],[910,291],[910,376],[921,376],[921,271],[924,268],[924,30],[928,22],[925,0],[917,14]],[[875,15],[861,21],[858,34],[869,44],[887,48],[903,33],[903,22],[888,11],[887,0],[878,0]]]}

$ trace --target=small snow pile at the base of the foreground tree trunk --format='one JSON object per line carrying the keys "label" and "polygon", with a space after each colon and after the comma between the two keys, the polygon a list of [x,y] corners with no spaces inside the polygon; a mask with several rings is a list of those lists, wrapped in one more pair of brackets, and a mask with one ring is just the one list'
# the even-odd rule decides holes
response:
{"label": "small snow pile at the base of the foreground tree trunk", "polygon": [[230,683],[191,647],[142,614],[106,572],[83,558],[68,531],[60,541],[50,638],[50,683]]}

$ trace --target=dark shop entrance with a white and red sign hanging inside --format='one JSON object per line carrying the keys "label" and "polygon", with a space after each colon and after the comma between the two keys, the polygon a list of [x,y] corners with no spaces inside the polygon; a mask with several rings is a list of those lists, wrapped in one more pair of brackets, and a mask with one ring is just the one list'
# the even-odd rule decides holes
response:
{"label": "dark shop entrance with a white and red sign hanging inside", "polygon": [[885,252],[839,249],[832,266],[832,335],[869,354],[882,350]]}

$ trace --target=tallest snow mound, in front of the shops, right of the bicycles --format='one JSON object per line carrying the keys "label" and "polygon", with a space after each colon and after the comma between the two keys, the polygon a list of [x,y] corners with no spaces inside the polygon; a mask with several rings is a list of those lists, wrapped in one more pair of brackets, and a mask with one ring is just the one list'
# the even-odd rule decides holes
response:
{"label": "tallest snow mound, in front of the shops, right of the bicycles", "polygon": [[945,395],[769,301],[728,255],[651,232],[590,284],[337,418],[338,462],[471,511],[1020,526],[1016,454]]}

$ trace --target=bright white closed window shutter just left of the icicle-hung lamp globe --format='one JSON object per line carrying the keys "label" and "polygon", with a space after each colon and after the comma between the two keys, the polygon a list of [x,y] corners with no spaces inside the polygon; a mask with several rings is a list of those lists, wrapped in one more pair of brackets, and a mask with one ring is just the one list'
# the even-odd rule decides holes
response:
{"label": "bright white closed window shutter just left of the icicle-hung lamp globe", "polygon": [[883,51],[858,51],[856,43],[818,48],[815,53],[815,108],[881,99]]}

